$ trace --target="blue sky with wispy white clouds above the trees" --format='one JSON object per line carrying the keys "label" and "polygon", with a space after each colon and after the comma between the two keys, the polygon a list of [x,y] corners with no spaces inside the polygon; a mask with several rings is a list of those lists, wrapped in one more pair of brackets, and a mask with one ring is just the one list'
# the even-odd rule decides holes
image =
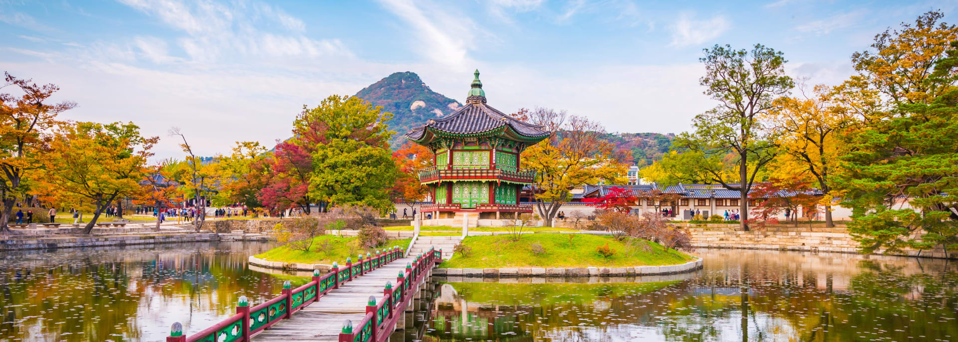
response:
{"label": "blue sky with wispy white clouds above the trees", "polygon": [[[73,121],[133,122],[156,158],[271,148],[303,105],[412,71],[465,102],[565,109],[610,132],[679,133],[717,103],[702,49],[760,43],[809,85],[854,74],[875,34],[955,1],[0,0],[0,69],[60,87]],[[9,88],[4,89],[7,92]],[[402,133],[402,132],[400,132]]]}

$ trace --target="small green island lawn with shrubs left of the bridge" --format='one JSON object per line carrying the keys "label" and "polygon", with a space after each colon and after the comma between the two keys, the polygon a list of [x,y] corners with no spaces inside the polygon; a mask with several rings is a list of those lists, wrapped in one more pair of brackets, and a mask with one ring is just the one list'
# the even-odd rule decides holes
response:
{"label": "small green island lawn with shrubs left of the bridge", "polygon": [[303,263],[327,263],[339,262],[346,263],[346,258],[352,257],[355,262],[356,256],[367,252],[375,253],[376,249],[385,249],[393,246],[399,246],[405,249],[409,246],[411,239],[390,239],[384,246],[378,248],[364,249],[359,247],[359,240],[355,237],[336,237],[324,235],[313,238],[312,247],[309,252],[298,251],[279,246],[258,254],[256,257],[269,262],[303,262]]}

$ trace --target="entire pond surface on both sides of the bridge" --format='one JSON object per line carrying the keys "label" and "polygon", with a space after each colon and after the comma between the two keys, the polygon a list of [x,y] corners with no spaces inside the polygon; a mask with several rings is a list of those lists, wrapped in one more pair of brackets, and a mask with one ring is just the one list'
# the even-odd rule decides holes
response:
{"label": "entire pond surface on both sides of the bridge", "polygon": [[[241,295],[255,305],[285,280],[308,282],[246,265],[270,247],[223,241],[0,254],[0,341],[160,341],[177,321],[199,331],[231,315]],[[958,340],[958,262],[693,254],[705,259],[702,270],[666,277],[445,283],[421,338]]]}

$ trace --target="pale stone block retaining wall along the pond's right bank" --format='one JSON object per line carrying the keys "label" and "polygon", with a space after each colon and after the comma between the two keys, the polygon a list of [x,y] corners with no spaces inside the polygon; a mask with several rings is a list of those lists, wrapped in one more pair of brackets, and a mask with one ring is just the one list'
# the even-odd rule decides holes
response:
{"label": "pale stone block retaining wall along the pond's right bank", "polygon": [[[738,228],[690,228],[694,247],[776,249],[810,252],[858,253],[858,241],[845,228],[775,227],[743,232]],[[892,255],[946,258],[942,249],[906,250]],[[958,258],[958,253],[951,253]]]}

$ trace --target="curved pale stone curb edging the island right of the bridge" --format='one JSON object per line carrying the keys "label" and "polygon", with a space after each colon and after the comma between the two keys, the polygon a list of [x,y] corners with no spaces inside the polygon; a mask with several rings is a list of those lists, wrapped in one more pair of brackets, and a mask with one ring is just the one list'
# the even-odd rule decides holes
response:
{"label": "curved pale stone curb edging the island right of the bridge", "polygon": [[[250,257],[252,258],[252,257]],[[526,276],[547,277],[595,277],[595,276],[645,276],[691,272],[702,268],[702,259],[696,258],[691,262],[669,264],[662,266],[633,266],[633,267],[508,267],[508,268],[436,268],[435,275],[482,277],[482,278],[510,278]]]}

